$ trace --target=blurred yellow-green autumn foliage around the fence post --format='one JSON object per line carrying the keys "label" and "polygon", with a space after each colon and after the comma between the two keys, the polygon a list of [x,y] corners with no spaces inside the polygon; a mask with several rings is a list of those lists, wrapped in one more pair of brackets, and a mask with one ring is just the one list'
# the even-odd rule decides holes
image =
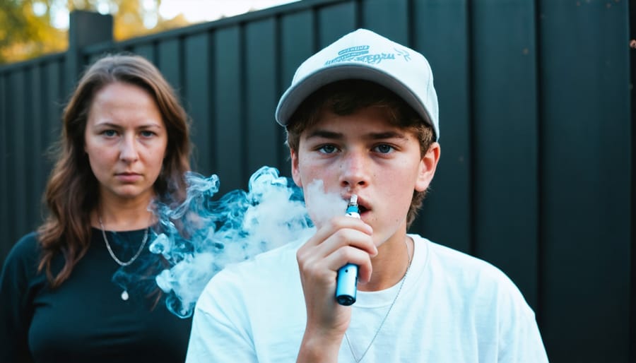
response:
{"label": "blurred yellow-green autumn foliage around the fence post", "polygon": [[68,28],[59,24],[64,23],[60,16],[68,17],[73,10],[110,13],[115,40],[189,24],[181,14],[161,18],[160,4],[161,0],[0,0],[0,64],[64,52]]}

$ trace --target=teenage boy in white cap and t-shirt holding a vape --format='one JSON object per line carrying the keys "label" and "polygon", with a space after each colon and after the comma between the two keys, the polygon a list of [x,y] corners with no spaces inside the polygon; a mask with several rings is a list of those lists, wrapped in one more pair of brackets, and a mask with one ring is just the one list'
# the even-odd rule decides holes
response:
{"label": "teenage boy in white cap and t-shirt holding a vape", "polygon": [[[547,362],[534,312],[500,270],[407,234],[440,158],[428,61],[369,30],[311,56],[281,97],[293,180],[358,196],[360,219],[230,266],[194,313],[187,362]],[[344,211],[343,211],[344,214]],[[359,266],[357,302],[336,275]]]}

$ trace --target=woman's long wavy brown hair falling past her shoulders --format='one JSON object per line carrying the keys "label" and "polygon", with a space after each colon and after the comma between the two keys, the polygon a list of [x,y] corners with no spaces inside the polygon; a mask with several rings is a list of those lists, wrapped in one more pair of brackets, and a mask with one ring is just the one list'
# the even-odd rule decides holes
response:
{"label": "woman's long wavy brown hair falling past her shoulders", "polygon": [[[44,199],[49,214],[38,228],[42,256],[38,270],[46,270],[52,287],[69,278],[76,263],[90,246],[90,212],[99,201],[98,181],[84,153],[84,133],[95,94],[114,82],[146,90],[155,100],[167,129],[163,169],[155,181],[161,201],[184,197],[184,172],[190,169],[189,117],[169,83],[148,60],[132,54],[104,56],[88,68],[78,82],[62,114],[57,160],[47,183]],[[54,275],[54,256],[64,256],[64,267]]]}

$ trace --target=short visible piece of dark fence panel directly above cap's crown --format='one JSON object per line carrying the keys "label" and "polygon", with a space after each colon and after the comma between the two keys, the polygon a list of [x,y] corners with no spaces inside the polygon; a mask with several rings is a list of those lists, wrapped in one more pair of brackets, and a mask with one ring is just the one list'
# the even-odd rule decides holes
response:
{"label": "short visible piece of dark fence panel directly above cap's crown", "polygon": [[408,45],[408,0],[363,1],[360,26]]}

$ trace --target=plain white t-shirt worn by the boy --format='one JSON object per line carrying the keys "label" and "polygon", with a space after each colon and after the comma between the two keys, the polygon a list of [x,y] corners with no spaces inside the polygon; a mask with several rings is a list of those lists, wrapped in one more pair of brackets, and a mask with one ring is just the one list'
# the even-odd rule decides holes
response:
{"label": "plain white t-shirt worn by the boy", "polygon": [[[534,312],[494,266],[409,234],[415,252],[404,286],[362,362],[548,362]],[[194,311],[187,363],[295,362],[305,301],[295,242],[228,266]],[[369,346],[399,290],[358,291],[347,335]],[[343,338],[338,362],[355,362]]]}

